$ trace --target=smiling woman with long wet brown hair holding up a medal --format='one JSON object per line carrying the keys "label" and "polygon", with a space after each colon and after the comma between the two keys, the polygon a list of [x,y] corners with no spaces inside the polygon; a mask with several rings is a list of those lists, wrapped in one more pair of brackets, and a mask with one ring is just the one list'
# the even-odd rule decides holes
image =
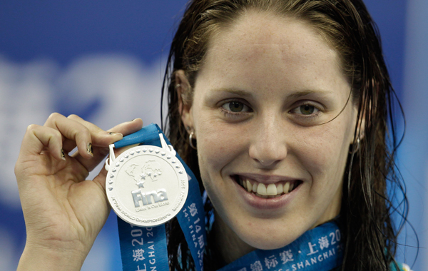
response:
{"label": "smiling woman with long wet brown hair holding up a medal", "polygon": [[[345,237],[342,270],[398,268],[386,193],[396,182],[393,94],[362,1],[191,1],[168,64],[168,135],[215,218],[205,269],[330,220]],[[102,131],[59,114],[29,126],[16,163],[27,226],[19,270],[80,269],[110,210],[106,171],[84,179],[108,144],[141,126]],[[167,228],[170,269],[192,269],[176,220]]]}

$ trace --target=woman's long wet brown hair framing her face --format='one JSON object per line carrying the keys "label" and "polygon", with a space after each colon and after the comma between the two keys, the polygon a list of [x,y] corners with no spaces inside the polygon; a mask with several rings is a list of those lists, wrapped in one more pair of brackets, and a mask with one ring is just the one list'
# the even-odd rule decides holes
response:
{"label": "woman's long wet brown hair framing her face", "polygon": [[[396,96],[377,27],[362,0],[190,1],[174,36],[163,81],[162,97],[168,99],[163,128],[168,129],[171,143],[200,182],[197,153],[188,143],[178,104],[180,99],[185,105],[192,103],[195,78],[210,39],[249,12],[300,19],[340,56],[342,71],[352,88],[350,100],[358,108],[355,140],[350,145],[343,179],[340,227],[345,250],[341,270],[389,270],[394,264],[398,232],[407,218],[407,198],[394,170],[399,145],[392,112]],[[181,96],[175,89],[178,70],[185,72],[190,83]],[[201,182],[200,188],[203,191]],[[402,217],[398,226],[392,223],[394,213]],[[167,229],[170,269],[193,270],[177,221],[172,220]],[[212,264],[206,260],[205,270],[210,270]]]}

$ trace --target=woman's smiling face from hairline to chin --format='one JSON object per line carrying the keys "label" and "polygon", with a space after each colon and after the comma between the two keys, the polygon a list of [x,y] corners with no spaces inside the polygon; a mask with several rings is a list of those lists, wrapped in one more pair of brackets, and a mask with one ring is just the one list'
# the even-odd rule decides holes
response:
{"label": "woman's smiling face from hairline to chin", "polygon": [[282,247],[339,214],[349,96],[339,56],[300,20],[250,13],[211,37],[183,120],[216,213],[240,240]]}

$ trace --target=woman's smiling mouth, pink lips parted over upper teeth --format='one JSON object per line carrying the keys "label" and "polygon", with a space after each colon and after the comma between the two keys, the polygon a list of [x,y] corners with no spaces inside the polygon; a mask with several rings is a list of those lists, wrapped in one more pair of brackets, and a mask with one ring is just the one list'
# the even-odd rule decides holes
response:
{"label": "woman's smiling mouth, pink lips parted over upper teeth", "polygon": [[260,198],[278,198],[295,190],[302,183],[301,180],[283,180],[267,184],[243,175],[232,175],[231,177],[248,193],[253,193]]}

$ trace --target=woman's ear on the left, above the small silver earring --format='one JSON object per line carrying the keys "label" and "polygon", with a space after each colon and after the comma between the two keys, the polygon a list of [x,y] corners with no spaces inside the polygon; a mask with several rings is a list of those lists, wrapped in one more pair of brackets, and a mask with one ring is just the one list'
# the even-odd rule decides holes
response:
{"label": "woman's ear on the left, above the small silver earring", "polygon": [[175,72],[175,91],[177,91],[178,95],[178,111],[180,112],[181,121],[183,121],[187,131],[193,131],[193,96],[191,93],[190,83],[183,70]]}

